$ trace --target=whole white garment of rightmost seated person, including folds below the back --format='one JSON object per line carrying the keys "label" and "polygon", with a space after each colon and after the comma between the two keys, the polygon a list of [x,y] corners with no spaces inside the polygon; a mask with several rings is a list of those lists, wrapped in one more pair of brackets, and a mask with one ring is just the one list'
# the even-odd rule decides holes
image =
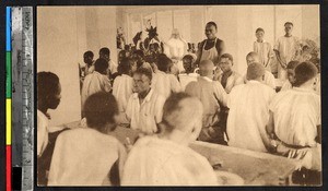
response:
{"label": "whole white garment of rightmost seated person, including folds below the back", "polygon": [[284,143],[309,148],[281,151],[290,158],[302,159],[308,169],[321,170],[321,146],[316,143],[321,124],[320,96],[312,89],[293,87],[280,92],[270,104],[274,133]]}

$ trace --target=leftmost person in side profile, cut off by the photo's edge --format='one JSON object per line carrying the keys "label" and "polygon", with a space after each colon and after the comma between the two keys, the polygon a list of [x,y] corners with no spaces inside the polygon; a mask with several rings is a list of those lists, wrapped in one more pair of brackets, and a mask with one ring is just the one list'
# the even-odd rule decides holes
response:
{"label": "leftmost person in side profile, cut off by the photo's edge", "polygon": [[[47,184],[52,146],[56,138],[63,130],[49,127],[48,109],[56,109],[61,99],[59,77],[51,72],[37,73],[37,184]],[[56,132],[54,132],[56,130]],[[31,132],[32,133],[32,132]],[[54,135],[55,134],[55,135]]]}

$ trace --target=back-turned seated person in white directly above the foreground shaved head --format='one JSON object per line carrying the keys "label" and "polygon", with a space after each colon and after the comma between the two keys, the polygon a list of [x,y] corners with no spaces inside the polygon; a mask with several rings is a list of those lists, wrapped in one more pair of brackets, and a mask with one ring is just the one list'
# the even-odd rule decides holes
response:
{"label": "back-turned seated person in white directly above the foreground shaved head", "polygon": [[165,55],[160,55],[156,61],[156,68],[153,75],[152,88],[167,98],[172,93],[181,91],[180,84],[174,74],[169,73],[172,61]]}

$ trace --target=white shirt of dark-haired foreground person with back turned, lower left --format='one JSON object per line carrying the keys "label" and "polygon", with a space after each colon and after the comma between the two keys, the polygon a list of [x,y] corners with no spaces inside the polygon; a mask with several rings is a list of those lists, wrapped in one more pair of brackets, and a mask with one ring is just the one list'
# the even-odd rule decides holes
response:
{"label": "white shirt of dark-haired foreground person with back turned, lower left", "polygon": [[94,129],[81,128],[62,132],[56,141],[48,186],[109,184],[108,172],[126,151],[114,136]]}

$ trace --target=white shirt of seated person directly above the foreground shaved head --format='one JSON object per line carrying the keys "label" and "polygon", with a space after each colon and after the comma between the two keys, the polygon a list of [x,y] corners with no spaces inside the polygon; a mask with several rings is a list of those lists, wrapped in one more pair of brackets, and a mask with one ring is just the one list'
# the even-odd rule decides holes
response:
{"label": "white shirt of seated person directly above the foreground shaved head", "polygon": [[167,98],[171,93],[178,93],[181,91],[179,81],[176,79],[175,75],[168,74],[157,70],[152,80],[152,88]]}

